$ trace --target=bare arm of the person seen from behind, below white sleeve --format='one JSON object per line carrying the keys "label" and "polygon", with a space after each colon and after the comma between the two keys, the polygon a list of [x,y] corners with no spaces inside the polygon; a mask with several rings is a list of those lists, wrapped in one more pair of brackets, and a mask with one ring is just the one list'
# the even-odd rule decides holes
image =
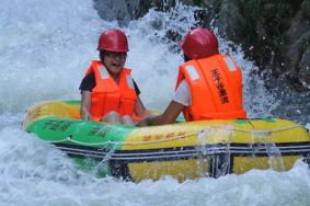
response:
{"label": "bare arm of the person seen from behind, below white sleeve", "polygon": [[175,101],[171,101],[162,114],[142,118],[137,124],[137,126],[164,125],[175,123],[176,117],[184,108],[185,105]]}

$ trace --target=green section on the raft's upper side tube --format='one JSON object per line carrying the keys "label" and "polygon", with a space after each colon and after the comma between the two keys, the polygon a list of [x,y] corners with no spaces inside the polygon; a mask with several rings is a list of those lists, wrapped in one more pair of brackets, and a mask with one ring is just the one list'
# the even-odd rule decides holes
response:
{"label": "green section on the raft's upper side tube", "polygon": [[[135,126],[46,117],[31,124],[27,131],[34,133],[41,139],[49,142],[64,141],[70,145],[80,145],[79,142],[82,142],[84,146],[90,147],[120,149],[124,139],[135,128]],[[110,141],[113,141],[113,144],[108,144]]]}

